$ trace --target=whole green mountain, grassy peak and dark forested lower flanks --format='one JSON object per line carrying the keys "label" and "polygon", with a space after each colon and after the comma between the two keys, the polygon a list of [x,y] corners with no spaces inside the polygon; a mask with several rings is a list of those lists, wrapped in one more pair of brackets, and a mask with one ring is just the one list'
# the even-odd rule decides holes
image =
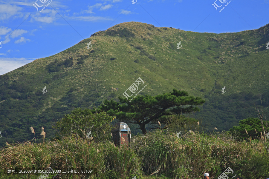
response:
{"label": "whole green mountain, grassy peak and dark forested lower flanks", "polygon": [[92,109],[105,99],[124,97],[139,77],[147,85],[141,95],[176,88],[206,99],[192,116],[208,129],[228,130],[239,120],[257,117],[254,103],[259,105],[260,97],[268,112],[268,42],[269,24],[221,34],[117,24],[0,76],[0,145],[32,140],[31,126],[36,138],[43,126],[49,139],[55,120],[75,107]]}

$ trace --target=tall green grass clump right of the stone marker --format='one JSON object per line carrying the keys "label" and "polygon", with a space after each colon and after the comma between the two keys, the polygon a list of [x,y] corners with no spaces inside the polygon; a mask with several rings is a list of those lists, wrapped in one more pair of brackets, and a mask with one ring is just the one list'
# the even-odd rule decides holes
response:
{"label": "tall green grass clump right of the stone marker", "polygon": [[[197,121],[189,123],[179,115],[170,116],[168,129],[157,129],[144,136],[135,136],[133,147],[143,158],[143,169],[148,175],[164,174],[173,178],[200,178],[205,172],[218,177],[228,166],[249,161],[255,153],[265,149],[260,141],[236,141],[228,133],[207,134],[199,131]],[[192,129],[193,131],[188,131]],[[181,138],[176,134],[181,130]],[[223,171],[222,171],[223,172]]]}

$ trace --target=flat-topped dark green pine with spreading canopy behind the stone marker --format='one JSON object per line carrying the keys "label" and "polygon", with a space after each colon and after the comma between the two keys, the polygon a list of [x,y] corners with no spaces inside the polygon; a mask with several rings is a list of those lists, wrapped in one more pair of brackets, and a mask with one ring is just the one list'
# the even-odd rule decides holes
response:
{"label": "flat-topped dark green pine with spreading canopy behind the stone marker", "polygon": [[142,133],[146,134],[146,124],[156,123],[160,120],[159,118],[165,115],[199,111],[199,108],[193,105],[205,102],[200,97],[189,96],[186,91],[176,89],[162,95],[137,95],[135,98],[133,97],[132,101],[131,98],[119,97],[120,102],[106,100],[97,110],[115,115],[124,122],[135,121],[140,126]]}

